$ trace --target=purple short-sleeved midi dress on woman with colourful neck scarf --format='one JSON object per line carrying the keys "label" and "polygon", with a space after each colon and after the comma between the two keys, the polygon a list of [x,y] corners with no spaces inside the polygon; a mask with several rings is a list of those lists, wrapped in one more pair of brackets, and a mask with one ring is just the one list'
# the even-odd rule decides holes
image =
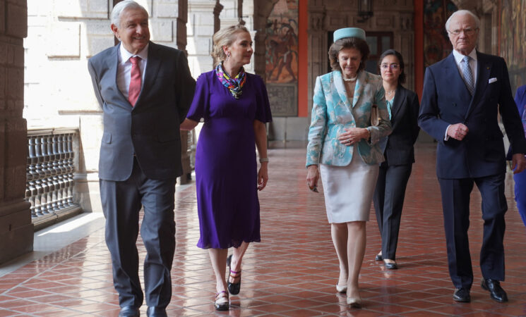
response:
{"label": "purple short-sleeved midi dress on woman with colourful neck scarf", "polygon": [[196,194],[203,249],[260,242],[254,120],[270,122],[263,80],[246,73],[234,99],[215,70],[198,77],[187,118],[204,120],[196,149]]}

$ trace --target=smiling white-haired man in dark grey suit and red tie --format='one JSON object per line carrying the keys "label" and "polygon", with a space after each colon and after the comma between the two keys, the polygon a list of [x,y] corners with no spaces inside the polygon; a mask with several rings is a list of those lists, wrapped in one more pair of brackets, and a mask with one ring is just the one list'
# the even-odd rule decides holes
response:
{"label": "smiling white-haired man in dark grey suit and red tie", "polygon": [[172,297],[175,184],[182,174],[179,123],[195,81],[184,52],[150,42],[148,12],[136,2],[119,2],[111,27],[121,43],[90,58],[88,68],[104,112],[100,196],[119,316],[138,316],[143,304],[136,247],[141,207],[147,313],[166,316]]}

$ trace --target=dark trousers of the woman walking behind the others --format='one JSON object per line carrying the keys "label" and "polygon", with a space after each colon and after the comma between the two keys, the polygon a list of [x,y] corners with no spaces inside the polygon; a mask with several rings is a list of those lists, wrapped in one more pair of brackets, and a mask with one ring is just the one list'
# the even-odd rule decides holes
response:
{"label": "dark trousers of the woman walking behind the others", "polygon": [[412,164],[388,166],[383,163],[380,166],[373,202],[382,236],[383,259],[395,260],[396,257],[405,188],[411,170]]}

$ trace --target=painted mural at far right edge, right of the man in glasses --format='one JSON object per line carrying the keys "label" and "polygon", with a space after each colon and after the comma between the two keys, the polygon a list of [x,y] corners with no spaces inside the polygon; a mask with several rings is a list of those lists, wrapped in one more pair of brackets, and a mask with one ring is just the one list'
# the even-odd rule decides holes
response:
{"label": "painted mural at far right edge, right of the man in glasses", "polygon": [[501,56],[508,63],[512,92],[526,85],[526,0],[501,0]]}

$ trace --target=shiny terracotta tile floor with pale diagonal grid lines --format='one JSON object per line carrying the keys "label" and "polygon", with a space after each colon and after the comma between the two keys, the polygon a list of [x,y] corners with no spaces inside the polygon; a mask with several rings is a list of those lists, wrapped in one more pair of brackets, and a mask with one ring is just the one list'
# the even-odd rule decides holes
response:
{"label": "shiny terracotta tile floor with pale diagonal grid lines", "polygon": [[[476,189],[470,228],[476,280],[472,302],[457,304],[451,299],[453,286],[447,271],[435,150],[432,144],[420,144],[402,217],[397,254],[400,269],[387,271],[374,261],[380,237],[372,211],[360,276],[364,308],[348,309],[345,295],[335,292],[338,264],[323,194],[306,190],[304,150],[273,149],[270,160],[270,183],[260,195],[262,242],[251,245],[246,253],[241,293],[231,297],[232,309],[217,314],[526,316],[526,230],[513,201],[509,173],[503,286],[510,302],[493,302],[478,285],[482,220]],[[177,192],[176,206],[177,250],[169,316],[213,315],[213,273],[207,252],[196,247],[199,230],[195,187]],[[142,245],[139,250],[144,257]],[[145,306],[141,308],[144,311]],[[0,278],[0,316],[116,316],[118,312],[103,230]]]}

